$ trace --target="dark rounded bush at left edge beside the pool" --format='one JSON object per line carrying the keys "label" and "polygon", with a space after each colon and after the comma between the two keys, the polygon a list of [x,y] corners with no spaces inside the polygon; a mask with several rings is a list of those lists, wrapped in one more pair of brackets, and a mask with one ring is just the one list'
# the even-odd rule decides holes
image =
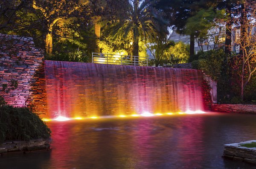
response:
{"label": "dark rounded bush at left edge beside the pool", "polygon": [[49,138],[51,130],[28,108],[0,106],[0,143]]}

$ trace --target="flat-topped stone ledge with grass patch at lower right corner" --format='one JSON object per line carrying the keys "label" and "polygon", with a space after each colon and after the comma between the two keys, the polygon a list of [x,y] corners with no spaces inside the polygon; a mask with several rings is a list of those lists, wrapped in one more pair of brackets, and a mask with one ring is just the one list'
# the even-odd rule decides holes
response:
{"label": "flat-topped stone ledge with grass patch at lower right corner", "polygon": [[245,147],[241,144],[256,143],[256,140],[242,141],[233,144],[224,144],[223,157],[236,161],[256,164],[256,147]]}

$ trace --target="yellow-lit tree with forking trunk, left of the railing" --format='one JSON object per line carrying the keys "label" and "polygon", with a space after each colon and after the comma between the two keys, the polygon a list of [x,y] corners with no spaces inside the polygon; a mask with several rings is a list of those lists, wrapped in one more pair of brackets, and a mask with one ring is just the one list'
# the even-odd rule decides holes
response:
{"label": "yellow-lit tree with forking trunk, left of the railing", "polygon": [[45,48],[47,54],[52,54],[52,34],[54,25],[72,17],[86,17],[89,13],[88,0],[33,0],[33,8],[40,10],[47,22]]}

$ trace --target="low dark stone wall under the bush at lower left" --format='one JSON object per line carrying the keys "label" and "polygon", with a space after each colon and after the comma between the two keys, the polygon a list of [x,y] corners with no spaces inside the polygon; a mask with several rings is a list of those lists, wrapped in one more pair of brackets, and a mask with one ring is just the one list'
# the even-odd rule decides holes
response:
{"label": "low dark stone wall under the bush at lower left", "polygon": [[6,141],[0,144],[0,155],[9,153],[26,153],[37,150],[49,150],[50,139],[36,139],[31,141]]}

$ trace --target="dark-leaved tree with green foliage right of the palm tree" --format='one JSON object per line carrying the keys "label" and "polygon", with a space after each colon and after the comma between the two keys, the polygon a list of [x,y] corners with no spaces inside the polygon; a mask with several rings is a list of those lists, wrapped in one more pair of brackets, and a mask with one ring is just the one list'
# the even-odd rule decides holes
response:
{"label": "dark-leaved tree with green foliage right of the palm tree", "polygon": [[202,32],[206,32],[209,28],[207,25],[214,21],[216,2],[212,0],[159,0],[155,6],[166,13],[169,26],[172,26],[178,34],[190,36],[189,56],[192,57],[195,53],[195,38]]}

